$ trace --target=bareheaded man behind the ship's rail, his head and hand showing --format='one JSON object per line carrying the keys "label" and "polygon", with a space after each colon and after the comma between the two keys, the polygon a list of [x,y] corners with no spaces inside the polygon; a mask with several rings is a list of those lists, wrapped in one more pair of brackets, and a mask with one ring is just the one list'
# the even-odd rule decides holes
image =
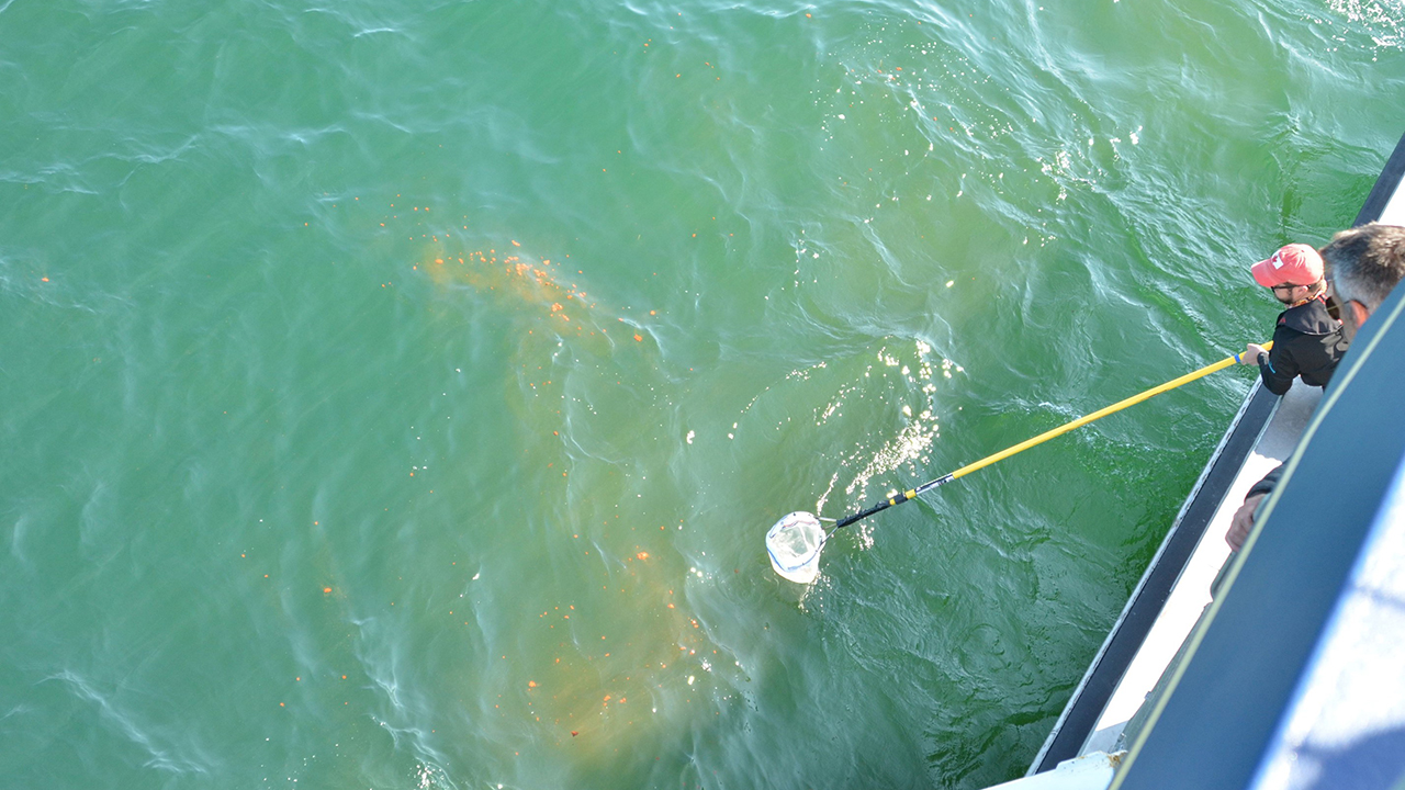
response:
{"label": "bareheaded man behind the ship's rail, his head and hand showing", "polygon": [[[1342,305],[1342,335],[1350,343],[1395,284],[1405,280],[1405,228],[1377,222],[1360,225],[1332,236],[1319,252],[1326,263],[1328,292]],[[1234,551],[1239,551],[1249,537],[1255,512],[1281,474],[1280,465],[1256,482],[1229,520],[1225,541]]]}

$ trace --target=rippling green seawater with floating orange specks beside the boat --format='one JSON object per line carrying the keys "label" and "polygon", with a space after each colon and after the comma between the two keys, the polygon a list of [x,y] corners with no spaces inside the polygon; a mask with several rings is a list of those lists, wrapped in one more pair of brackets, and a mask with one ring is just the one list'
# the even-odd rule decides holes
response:
{"label": "rippling green seawater with floating orange specks beside the boat", "polygon": [[0,786],[1024,772],[1399,0],[0,0]]}

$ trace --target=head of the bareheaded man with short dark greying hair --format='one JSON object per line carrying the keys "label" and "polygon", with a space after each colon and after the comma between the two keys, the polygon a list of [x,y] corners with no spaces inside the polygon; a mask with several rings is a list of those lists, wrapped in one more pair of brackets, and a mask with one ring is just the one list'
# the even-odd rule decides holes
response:
{"label": "head of the bareheaded man with short dark greying hair", "polygon": [[1405,278],[1405,228],[1370,222],[1332,236],[1319,252],[1350,337]]}

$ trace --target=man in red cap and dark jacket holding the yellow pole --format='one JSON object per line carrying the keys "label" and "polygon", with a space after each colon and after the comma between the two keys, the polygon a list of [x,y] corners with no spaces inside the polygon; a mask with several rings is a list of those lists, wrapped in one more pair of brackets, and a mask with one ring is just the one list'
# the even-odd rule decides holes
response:
{"label": "man in red cap and dark jacket holding the yellow pole", "polygon": [[1274,395],[1287,392],[1298,375],[1302,384],[1326,387],[1347,342],[1342,323],[1326,311],[1322,256],[1307,245],[1287,245],[1269,260],[1253,264],[1249,273],[1288,309],[1274,322],[1272,353],[1249,343],[1236,358],[1246,365],[1257,364],[1263,387]]}

